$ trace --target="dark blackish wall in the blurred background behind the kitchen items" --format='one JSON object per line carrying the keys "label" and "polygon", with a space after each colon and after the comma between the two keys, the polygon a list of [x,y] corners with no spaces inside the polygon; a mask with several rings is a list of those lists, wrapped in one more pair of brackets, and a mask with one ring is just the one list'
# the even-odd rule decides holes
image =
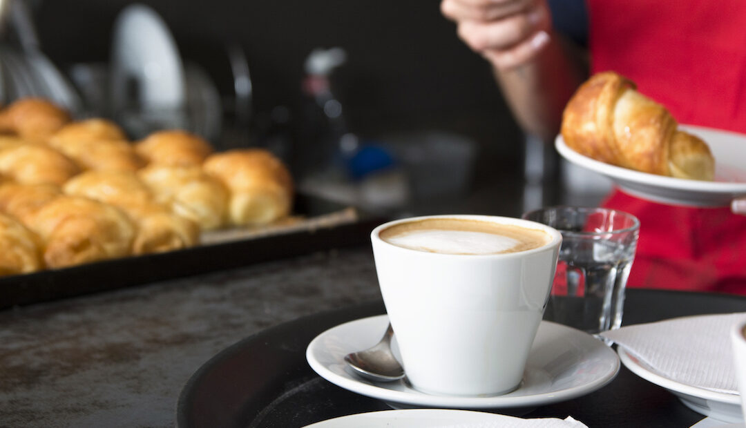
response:
{"label": "dark blackish wall in the blurred background behind the kitchen items", "polygon": [[[339,97],[351,130],[375,137],[439,129],[479,143],[476,186],[521,171],[521,136],[489,67],[457,39],[437,0],[148,0],[182,56],[231,92],[225,47],[242,46],[254,84],[254,117],[279,105],[299,126],[303,61],[316,47],[348,52]],[[123,0],[36,4],[43,50],[60,66],[104,62]],[[259,118],[259,119],[257,119]],[[257,124],[254,124],[255,126]],[[292,135],[297,136],[297,129]],[[296,141],[295,144],[304,144]]]}

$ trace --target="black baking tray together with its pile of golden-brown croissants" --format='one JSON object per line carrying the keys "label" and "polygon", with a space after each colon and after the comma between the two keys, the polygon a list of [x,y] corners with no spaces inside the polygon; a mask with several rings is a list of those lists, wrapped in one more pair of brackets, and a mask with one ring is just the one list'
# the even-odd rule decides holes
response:
{"label": "black baking tray together with its pile of golden-brown croissants", "polygon": [[0,109],[0,308],[357,245],[380,220],[298,194],[262,148]]}

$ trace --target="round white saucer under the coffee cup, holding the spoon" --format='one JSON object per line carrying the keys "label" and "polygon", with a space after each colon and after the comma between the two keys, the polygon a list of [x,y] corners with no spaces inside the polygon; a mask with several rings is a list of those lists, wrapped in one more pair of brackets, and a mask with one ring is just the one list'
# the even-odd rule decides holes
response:
{"label": "round white saucer under the coffee cup, holding the spoon", "polygon": [[[451,409],[505,409],[539,406],[588,394],[611,382],[619,371],[616,353],[587,333],[542,321],[528,357],[521,386],[509,394],[451,397],[424,394],[404,380],[374,383],[352,374],[347,353],[374,345],[389,318],[378,315],[350,321],[316,336],[306,359],[316,373],[349,391],[384,400],[394,408],[408,406]],[[396,340],[392,343],[397,350]]]}

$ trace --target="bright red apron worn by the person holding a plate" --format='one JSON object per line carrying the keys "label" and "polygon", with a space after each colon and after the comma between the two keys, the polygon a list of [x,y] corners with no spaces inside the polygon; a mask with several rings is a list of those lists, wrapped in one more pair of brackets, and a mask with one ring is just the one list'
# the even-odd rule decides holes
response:
{"label": "bright red apron worn by the person holding a plate", "polygon": [[[587,1],[592,72],[630,78],[680,123],[746,133],[746,1]],[[629,286],[746,294],[745,216],[619,191],[604,205],[640,219]]]}

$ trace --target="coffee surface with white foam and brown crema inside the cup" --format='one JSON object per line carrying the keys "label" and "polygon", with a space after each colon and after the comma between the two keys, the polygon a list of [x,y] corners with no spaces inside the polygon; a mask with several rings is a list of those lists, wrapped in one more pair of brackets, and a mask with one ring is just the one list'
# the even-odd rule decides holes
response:
{"label": "coffee surface with white foam and brown crema inside the cup", "polygon": [[389,244],[440,254],[503,254],[549,242],[542,230],[513,224],[457,218],[430,218],[395,224],[380,232]]}

